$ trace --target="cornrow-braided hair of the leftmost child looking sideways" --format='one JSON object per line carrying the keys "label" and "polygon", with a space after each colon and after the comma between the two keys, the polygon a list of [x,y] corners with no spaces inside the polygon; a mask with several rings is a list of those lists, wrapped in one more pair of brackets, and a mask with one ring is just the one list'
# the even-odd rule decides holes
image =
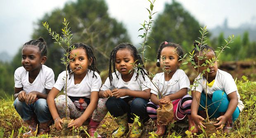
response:
{"label": "cornrow-braided hair of the leftmost child looking sideways", "polygon": [[45,40],[42,37],[39,37],[37,40],[30,40],[26,42],[23,47],[35,46],[38,47],[38,51],[40,52],[40,56],[47,56],[47,45]]}

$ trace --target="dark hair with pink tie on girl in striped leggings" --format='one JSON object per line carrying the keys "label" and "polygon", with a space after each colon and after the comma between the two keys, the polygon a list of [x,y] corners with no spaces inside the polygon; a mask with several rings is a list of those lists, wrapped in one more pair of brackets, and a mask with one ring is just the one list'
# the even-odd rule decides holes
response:
{"label": "dark hair with pink tie on girl in striped leggings", "polygon": [[175,44],[175,43],[172,43],[172,42],[162,42],[159,46],[159,49],[157,51],[157,62],[156,62],[156,66],[157,67],[160,67],[160,58],[161,58],[161,51],[165,48],[165,47],[174,47],[176,49],[176,53],[178,54],[178,60],[180,60],[180,57],[183,56],[183,50],[181,48],[181,46],[179,44]]}

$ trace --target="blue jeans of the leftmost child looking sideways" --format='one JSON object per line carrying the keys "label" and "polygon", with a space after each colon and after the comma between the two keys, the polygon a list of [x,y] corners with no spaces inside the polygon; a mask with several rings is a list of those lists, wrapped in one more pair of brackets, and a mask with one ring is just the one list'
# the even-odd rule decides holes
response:
{"label": "blue jeans of the leftmost child looking sideways", "polygon": [[52,119],[46,99],[40,98],[33,104],[26,104],[16,98],[13,105],[24,121],[31,119],[34,115],[36,115],[40,123],[45,123]]}

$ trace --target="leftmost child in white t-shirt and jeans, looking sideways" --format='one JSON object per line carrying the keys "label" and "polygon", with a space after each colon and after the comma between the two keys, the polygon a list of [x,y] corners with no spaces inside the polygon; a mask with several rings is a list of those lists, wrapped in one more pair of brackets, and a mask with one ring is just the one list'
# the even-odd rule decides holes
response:
{"label": "leftmost child in white t-shirt and jeans, looking sideways", "polygon": [[[28,124],[29,132],[23,137],[50,132],[52,116],[46,98],[54,85],[54,73],[43,65],[47,59],[46,42],[43,38],[26,42],[22,48],[23,67],[14,73],[14,108]],[[36,131],[38,125],[38,131]]]}

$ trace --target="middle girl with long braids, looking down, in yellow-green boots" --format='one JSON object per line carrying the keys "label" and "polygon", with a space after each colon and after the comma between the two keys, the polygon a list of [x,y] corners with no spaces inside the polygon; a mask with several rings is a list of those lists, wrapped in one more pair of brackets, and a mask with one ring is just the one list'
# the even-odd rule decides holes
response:
{"label": "middle girl with long braids, looking down, in yellow-green boots", "polygon": [[[136,70],[133,63],[138,65]],[[113,137],[120,138],[128,132],[128,123],[133,122],[131,118],[135,114],[140,117],[141,125],[134,124],[130,138],[138,138],[142,133],[143,122],[149,119],[146,104],[150,98],[150,80],[143,68],[142,59],[132,44],[122,43],[111,51],[109,77],[102,85],[99,96],[106,101],[107,110],[119,125]]]}

